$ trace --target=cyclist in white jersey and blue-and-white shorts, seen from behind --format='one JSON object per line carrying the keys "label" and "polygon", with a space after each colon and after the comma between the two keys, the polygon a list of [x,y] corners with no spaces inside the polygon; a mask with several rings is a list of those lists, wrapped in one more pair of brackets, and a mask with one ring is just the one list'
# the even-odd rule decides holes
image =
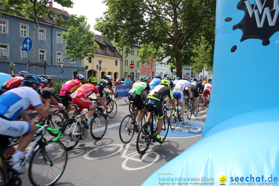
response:
{"label": "cyclist in white jersey and blue-and-white shorts, seen from behind", "polygon": [[[183,119],[184,117],[184,113],[185,113],[185,98],[184,98],[184,90],[187,87],[188,91],[190,92],[190,97],[192,97],[192,92],[191,92],[191,88],[190,88],[190,82],[187,81],[188,78],[187,76],[182,76],[182,79],[178,80],[174,90],[172,91],[173,96],[177,96],[177,100],[174,99],[178,102],[180,102],[181,105],[181,123],[185,124],[186,120]],[[175,104],[176,105],[176,104]]]}

